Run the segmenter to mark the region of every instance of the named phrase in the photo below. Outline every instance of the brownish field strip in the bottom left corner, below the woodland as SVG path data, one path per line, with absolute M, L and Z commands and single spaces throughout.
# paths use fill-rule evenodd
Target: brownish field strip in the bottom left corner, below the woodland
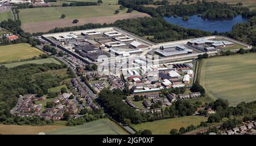
M 49 132 L 63 128 L 64 126 L 18 126 L 0 124 L 0 135 L 35 135 L 39 132 Z

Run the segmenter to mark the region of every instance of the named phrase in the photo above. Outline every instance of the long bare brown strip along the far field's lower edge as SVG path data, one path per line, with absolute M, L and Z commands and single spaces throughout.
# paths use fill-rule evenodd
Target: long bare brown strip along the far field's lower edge
M 61 19 L 61 20 L 53 20 L 48 22 L 36 22 L 36 23 L 26 23 L 22 24 L 22 29 L 25 32 L 47 32 L 52 30 L 55 27 L 68 27 L 68 26 L 81 26 L 86 23 L 113 23 L 116 20 L 129 19 L 129 18 L 138 18 L 150 16 L 146 13 L 136 13 L 136 14 L 122 14 L 122 15 L 113 15 L 113 16 L 99 16 L 93 18 L 80 18 L 79 23 L 72 23 L 73 19 Z

